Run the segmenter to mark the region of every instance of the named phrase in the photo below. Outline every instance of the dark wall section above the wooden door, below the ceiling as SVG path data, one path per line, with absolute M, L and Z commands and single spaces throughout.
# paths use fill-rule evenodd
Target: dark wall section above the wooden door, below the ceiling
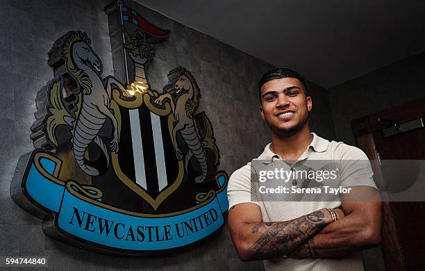
M 356 145 L 350 121 L 425 96 L 425 52 L 327 90 L 336 137 Z

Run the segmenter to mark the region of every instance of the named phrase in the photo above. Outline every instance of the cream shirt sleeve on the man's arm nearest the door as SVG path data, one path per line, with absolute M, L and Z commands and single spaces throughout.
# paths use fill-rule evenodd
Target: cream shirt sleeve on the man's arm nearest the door
M 337 156 L 340 160 L 340 186 L 372 186 L 374 172 L 366 154 L 358 147 L 342 144 L 338 146 Z

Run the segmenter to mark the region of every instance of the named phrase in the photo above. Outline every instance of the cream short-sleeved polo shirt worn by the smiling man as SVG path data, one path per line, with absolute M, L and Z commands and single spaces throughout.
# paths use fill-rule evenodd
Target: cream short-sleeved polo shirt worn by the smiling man
M 271 143 L 265 147 L 263 154 L 258 156 L 257 160 L 265 164 L 281 162 L 282 158 L 270 150 L 270 145 Z M 313 133 L 312 142 L 308 145 L 306 151 L 301 154 L 297 163 L 306 160 L 326 160 L 340 163 L 340 161 L 367 161 L 368 159 L 366 154 L 357 147 L 346 145 L 343 142 L 329 142 Z M 297 163 L 294 165 L 297 165 Z M 342 188 L 348 186 L 372 186 L 376 188 L 372 167 L 370 167 L 368 162 L 367 165 L 369 166 L 359 169 L 358 166 L 354 166 L 352 163 L 342 163 L 338 171 L 340 186 Z M 290 202 L 285 199 L 281 202 L 268 202 L 257 197 L 254 198 L 251 187 L 251 163 L 248 163 L 233 172 L 229 179 L 227 188 L 228 206 L 231 208 L 236 204 L 245 202 L 257 204 L 260 206 L 263 222 L 292 220 L 322 208 L 336 208 L 341 205 L 339 195 L 335 196 L 336 199 L 333 202 Z M 285 195 L 282 195 L 282 197 L 285 197 Z M 299 259 L 281 256 L 263 262 L 266 270 L 364 270 L 360 252 L 350 256 L 332 258 Z

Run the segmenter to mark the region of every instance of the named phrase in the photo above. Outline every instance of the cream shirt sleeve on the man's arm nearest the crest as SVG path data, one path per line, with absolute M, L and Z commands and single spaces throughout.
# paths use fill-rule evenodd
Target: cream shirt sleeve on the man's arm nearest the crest
M 251 165 L 247 164 L 236 170 L 228 180 L 228 208 L 236 204 L 251 202 L 258 205 L 256 196 L 251 193 Z

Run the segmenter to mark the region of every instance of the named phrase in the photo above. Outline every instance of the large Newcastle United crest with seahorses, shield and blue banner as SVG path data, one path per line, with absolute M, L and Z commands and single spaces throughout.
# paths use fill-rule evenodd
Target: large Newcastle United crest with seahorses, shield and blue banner
M 228 208 L 213 124 L 197 112 L 197 71 L 176 67 L 151 89 L 147 67 L 170 32 L 121 2 L 115 15 L 126 82 L 102 76 L 86 33 L 58 39 L 56 79 L 36 98 L 35 149 L 19 159 L 10 194 L 44 233 L 78 247 L 142 254 L 197 243 Z

